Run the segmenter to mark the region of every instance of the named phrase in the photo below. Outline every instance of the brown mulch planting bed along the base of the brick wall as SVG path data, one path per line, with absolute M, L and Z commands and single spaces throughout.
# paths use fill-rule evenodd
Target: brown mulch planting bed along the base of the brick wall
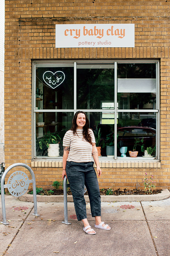
M 49 190 L 45 190 L 44 191 L 44 195 L 48 195 L 48 191 Z M 51 195 L 63 195 L 63 189 L 52 189 L 52 191 L 54 191 L 54 193 L 52 193 Z M 144 191 L 144 190 L 140 190 L 140 189 L 114 189 L 111 191 L 111 189 L 100 189 L 100 195 L 152 195 L 152 194 L 159 194 L 161 193 L 162 189 L 155 189 L 152 190 L 152 193 Z M 42 195 L 42 193 L 41 193 Z M 67 195 L 72 195 L 71 190 L 68 189 L 67 191 Z M 88 193 L 86 192 L 85 195 L 88 195 Z

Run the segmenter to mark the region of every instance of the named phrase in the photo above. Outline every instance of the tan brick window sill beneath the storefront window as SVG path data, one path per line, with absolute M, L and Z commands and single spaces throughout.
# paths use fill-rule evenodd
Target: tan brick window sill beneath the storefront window
M 150 158 L 140 158 L 137 157 L 132 159 L 131 157 L 118 158 L 113 160 L 112 158 L 100 157 L 99 165 L 101 168 L 161 168 L 160 160 Z M 31 167 L 52 167 L 52 168 L 62 168 L 62 159 L 33 159 L 31 161 Z M 94 164 L 94 167 L 96 165 Z

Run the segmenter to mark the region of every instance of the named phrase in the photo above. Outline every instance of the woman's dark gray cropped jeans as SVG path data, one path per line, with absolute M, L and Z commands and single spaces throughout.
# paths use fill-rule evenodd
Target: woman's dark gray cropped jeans
M 97 176 L 93 167 L 94 162 L 68 162 L 66 164 L 67 179 L 73 195 L 75 211 L 78 220 L 87 218 L 84 185 L 90 199 L 92 217 L 101 216 L 101 198 Z

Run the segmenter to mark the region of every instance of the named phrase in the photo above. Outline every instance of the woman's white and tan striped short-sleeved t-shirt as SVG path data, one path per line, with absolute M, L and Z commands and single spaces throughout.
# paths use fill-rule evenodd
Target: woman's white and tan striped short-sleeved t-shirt
M 92 138 L 92 143 L 95 143 L 94 133 L 91 129 L 88 130 Z M 76 130 L 77 135 L 73 135 L 73 131 L 69 130 L 63 138 L 63 146 L 70 147 L 67 161 L 73 162 L 91 162 L 92 161 L 92 145 L 83 137 L 83 129 Z

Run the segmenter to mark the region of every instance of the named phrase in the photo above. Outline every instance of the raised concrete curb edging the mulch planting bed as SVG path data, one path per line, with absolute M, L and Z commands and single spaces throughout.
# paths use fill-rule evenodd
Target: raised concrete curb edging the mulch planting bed
M 154 195 L 102 195 L 102 202 L 134 202 L 134 201 L 159 201 L 170 197 L 168 189 L 163 189 L 161 193 Z M 89 202 L 88 195 L 84 196 L 86 202 Z M 33 195 L 25 193 L 19 197 L 20 201 L 33 202 Z M 63 202 L 63 195 L 37 195 L 37 202 Z M 67 195 L 67 202 L 73 202 L 72 195 Z

